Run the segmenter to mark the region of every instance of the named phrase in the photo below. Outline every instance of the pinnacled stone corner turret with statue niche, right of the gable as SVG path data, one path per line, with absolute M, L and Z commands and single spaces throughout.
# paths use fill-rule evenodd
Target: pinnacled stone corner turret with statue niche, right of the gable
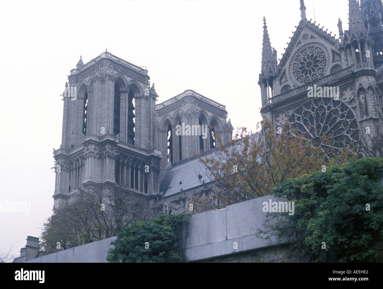
M 375 1 L 366 0 L 362 5 L 364 7 L 359 7 L 357 0 L 349 0 L 349 30 L 344 31 L 341 43 L 347 64 L 355 71 L 354 91 L 361 128 L 360 136 L 364 137 L 368 143 L 369 136 L 366 135 L 366 131 L 373 135 L 379 120 L 376 108 L 380 92 L 376 81 L 375 65 L 380 66 L 383 60 L 372 48 L 370 31 L 378 30 L 380 26 L 379 31 L 375 31 L 374 37 L 377 37 L 376 35 L 381 34 L 382 24 L 378 20 L 379 12 L 375 8 L 379 6 Z M 383 8 L 381 1 L 380 7 Z M 339 33 L 343 34 L 341 23 L 338 23 L 338 27 Z

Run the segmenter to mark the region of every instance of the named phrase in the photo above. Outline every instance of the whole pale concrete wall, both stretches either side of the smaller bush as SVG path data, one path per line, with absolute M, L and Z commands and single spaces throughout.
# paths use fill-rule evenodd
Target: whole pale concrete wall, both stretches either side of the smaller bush
M 275 238 L 265 241 L 255 236 L 258 229 L 264 230 L 262 225 L 267 213 L 262 212 L 262 203 L 268 202 L 269 199 L 275 201 L 268 195 L 230 205 L 225 209 L 211 210 L 191 216 L 185 249 L 187 261 L 216 259 L 219 256 L 280 245 L 281 243 Z M 115 238 L 96 241 L 28 262 L 107 262 L 106 256 L 111 248 L 110 242 Z

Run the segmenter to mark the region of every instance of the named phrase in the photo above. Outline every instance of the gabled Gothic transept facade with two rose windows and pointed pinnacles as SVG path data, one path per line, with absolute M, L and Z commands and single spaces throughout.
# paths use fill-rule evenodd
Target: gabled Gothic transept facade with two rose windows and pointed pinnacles
M 381 73 L 374 64 L 380 63 L 380 53 L 373 49 L 366 26 L 378 25 L 371 29 L 382 30 L 378 21 L 381 6 L 381 1 L 364 0 L 363 20 L 357 0 L 349 0 L 349 30 L 343 31 L 339 19 L 340 37 L 336 39 L 332 31 L 327 33 L 316 21 L 307 20 L 304 1 L 300 0 L 301 20 L 279 63 L 264 19 L 258 82 L 261 113 L 276 129 L 288 120 L 302 133 L 307 131 L 313 144 L 318 137 L 331 133 L 331 145 L 337 149 L 358 149 L 360 139 L 366 138 L 366 128 L 374 134 L 381 95 Z M 375 15 L 375 20 L 368 15 Z M 318 94 L 310 97 L 308 91 L 314 88 Z M 319 145 L 326 151 L 323 144 Z

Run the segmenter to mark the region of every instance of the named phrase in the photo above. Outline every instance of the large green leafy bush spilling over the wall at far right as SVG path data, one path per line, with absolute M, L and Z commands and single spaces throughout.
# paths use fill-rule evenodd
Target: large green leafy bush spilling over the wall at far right
M 265 227 L 290 237 L 314 262 L 382 262 L 382 176 L 383 159 L 364 158 L 289 179 L 272 195 L 295 201 L 295 214 Z

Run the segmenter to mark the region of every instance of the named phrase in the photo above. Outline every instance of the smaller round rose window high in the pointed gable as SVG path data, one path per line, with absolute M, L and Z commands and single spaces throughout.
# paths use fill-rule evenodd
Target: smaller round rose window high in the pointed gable
M 301 84 L 324 76 L 327 59 L 322 48 L 308 46 L 302 49 L 293 61 L 293 76 Z

